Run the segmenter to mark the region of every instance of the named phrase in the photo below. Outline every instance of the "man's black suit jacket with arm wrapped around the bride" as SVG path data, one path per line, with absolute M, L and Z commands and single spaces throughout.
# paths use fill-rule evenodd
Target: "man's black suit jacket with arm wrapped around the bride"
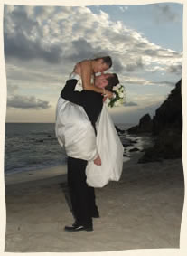
M 76 79 L 66 81 L 61 98 L 82 106 L 96 132 L 95 123 L 103 107 L 103 96 L 93 90 L 74 90 L 77 82 Z

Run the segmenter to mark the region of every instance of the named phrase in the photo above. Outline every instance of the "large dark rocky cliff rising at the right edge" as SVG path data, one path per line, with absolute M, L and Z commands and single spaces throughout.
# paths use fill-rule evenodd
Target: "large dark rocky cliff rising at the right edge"
M 139 159 L 139 163 L 182 156 L 181 83 L 182 81 L 176 83 L 168 98 L 156 109 L 153 121 L 148 118 L 143 119 L 142 128 L 141 122 L 139 122 L 138 128 L 136 128 L 137 133 L 146 128 L 148 130 L 148 126 L 146 127 L 145 123 L 149 123 L 149 128 L 151 128 L 151 132 L 155 136 L 154 146 L 145 150 L 145 155 Z M 130 128 L 128 132 L 136 129 L 135 127 Z

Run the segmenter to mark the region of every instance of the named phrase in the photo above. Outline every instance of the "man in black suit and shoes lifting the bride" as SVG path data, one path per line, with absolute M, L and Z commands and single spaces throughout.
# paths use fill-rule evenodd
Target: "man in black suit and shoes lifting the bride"
M 65 87 L 61 90 L 61 98 L 83 107 L 95 134 L 97 134 L 95 123 L 103 106 L 103 96 L 93 90 L 74 90 L 80 73 L 80 67 L 76 66 L 74 73 L 70 76 L 70 80 L 66 82 Z M 119 81 L 116 74 L 102 74 L 95 78 L 95 86 L 106 90 L 112 90 L 117 83 Z M 99 156 L 94 159 L 94 163 L 101 165 Z M 85 159 L 68 156 L 68 185 L 72 212 L 75 217 L 75 223 L 72 226 L 65 227 L 65 231 L 68 232 L 92 231 L 92 217 L 99 216 L 98 208 L 95 204 L 94 188 L 89 187 L 86 183 L 87 164 L 88 161 Z

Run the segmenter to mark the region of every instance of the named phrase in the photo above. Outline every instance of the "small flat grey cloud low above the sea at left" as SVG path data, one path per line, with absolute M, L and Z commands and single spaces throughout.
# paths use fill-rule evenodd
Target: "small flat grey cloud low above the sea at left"
M 14 95 L 8 97 L 7 107 L 15 109 L 49 109 L 51 106 L 48 101 L 35 99 L 33 96 Z

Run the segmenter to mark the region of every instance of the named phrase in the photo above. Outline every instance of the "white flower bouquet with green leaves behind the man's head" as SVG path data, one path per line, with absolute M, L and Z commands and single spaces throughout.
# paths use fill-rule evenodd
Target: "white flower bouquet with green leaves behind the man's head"
M 125 88 L 121 84 L 117 84 L 116 86 L 113 87 L 113 94 L 114 97 L 109 100 L 108 102 L 108 107 L 113 108 L 113 107 L 119 107 L 123 105 L 124 100 L 125 100 Z

